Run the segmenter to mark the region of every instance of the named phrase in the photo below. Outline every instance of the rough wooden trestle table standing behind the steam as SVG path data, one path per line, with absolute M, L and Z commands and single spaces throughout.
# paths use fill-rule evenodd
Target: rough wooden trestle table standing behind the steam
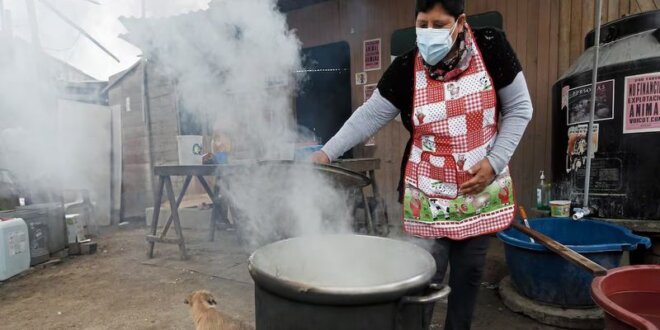
M 380 192 L 378 190 L 378 185 L 376 183 L 375 171 L 380 168 L 380 159 L 375 158 L 365 158 L 365 159 L 350 159 L 350 160 L 340 160 L 334 162 L 333 165 L 339 166 L 354 172 L 362 173 L 368 176 L 371 179 L 371 185 L 373 189 L 373 195 L 376 200 L 380 200 Z M 213 241 L 215 237 L 216 222 L 215 218 L 218 214 L 226 216 L 226 208 L 229 207 L 227 201 L 222 196 L 227 196 L 227 194 L 219 191 L 220 185 L 214 185 L 214 188 L 208 184 L 205 176 L 213 176 L 216 178 L 216 181 L 219 177 L 223 176 L 227 172 L 231 172 L 234 169 L 239 169 L 244 167 L 245 164 L 229 164 L 229 165 L 168 165 L 168 166 L 156 166 L 154 167 L 154 174 L 158 177 L 158 187 L 155 192 L 154 199 L 154 212 L 151 219 L 151 228 L 149 234 L 146 236 L 148 243 L 147 257 L 153 258 L 154 256 L 154 247 L 156 243 L 165 243 L 165 244 L 177 244 L 179 246 L 179 251 L 181 253 L 182 259 L 187 259 L 188 254 L 186 252 L 186 243 L 183 237 L 183 230 L 181 229 L 181 222 L 179 218 L 179 206 L 181 201 L 190 186 L 190 182 L 193 177 L 197 178 L 201 183 L 202 187 L 206 194 L 211 198 L 211 201 L 214 205 L 213 216 L 210 219 L 209 224 L 209 240 Z M 178 195 L 175 196 L 174 188 L 172 185 L 173 176 L 183 176 L 185 177 L 183 181 L 183 186 Z M 163 190 L 167 194 L 167 200 L 170 205 L 170 216 L 165 223 L 163 231 L 158 235 L 158 220 L 160 217 L 160 207 L 161 201 L 163 198 Z M 362 199 L 365 205 L 365 213 L 367 215 L 367 221 L 369 224 L 370 234 L 374 234 L 373 230 L 373 220 L 371 211 L 369 209 L 369 203 L 366 195 L 362 194 Z M 216 212 L 218 209 L 221 211 Z M 387 227 L 387 213 L 385 213 L 385 225 Z M 166 238 L 167 232 L 169 231 L 171 225 L 174 224 L 174 231 L 176 232 L 176 238 Z

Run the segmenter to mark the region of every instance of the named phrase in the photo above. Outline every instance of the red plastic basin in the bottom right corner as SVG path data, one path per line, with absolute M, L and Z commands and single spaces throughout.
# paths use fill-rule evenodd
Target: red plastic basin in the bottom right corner
M 660 265 L 619 267 L 596 277 L 591 296 L 607 330 L 660 329 Z

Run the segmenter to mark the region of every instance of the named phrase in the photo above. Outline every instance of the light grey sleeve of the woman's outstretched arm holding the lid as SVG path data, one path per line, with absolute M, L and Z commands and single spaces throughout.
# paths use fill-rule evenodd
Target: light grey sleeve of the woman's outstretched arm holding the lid
M 323 151 L 333 161 L 358 143 L 373 136 L 381 127 L 399 114 L 390 101 L 380 95 L 376 89 L 362 106 L 360 106 L 335 136 L 326 143 Z

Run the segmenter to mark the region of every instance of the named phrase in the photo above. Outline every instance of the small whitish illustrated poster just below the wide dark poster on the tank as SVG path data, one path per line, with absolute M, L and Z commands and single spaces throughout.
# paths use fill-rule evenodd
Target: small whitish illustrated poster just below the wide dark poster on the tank
M 576 171 L 587 163 L 587 127 L 588 124 L 568 128 L 568 147 L 566 150 L 566 173 Z M 598 151 L 598 124 L 591 128 L 591 155 Z

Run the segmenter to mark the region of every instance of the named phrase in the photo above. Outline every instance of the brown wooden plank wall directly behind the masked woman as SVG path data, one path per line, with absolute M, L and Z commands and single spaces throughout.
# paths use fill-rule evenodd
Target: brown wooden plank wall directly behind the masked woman
M 534 118 L 511 161 L 517 200 L 534 203 L 539 171 L 550 169 L 551 87 L 584 49 L 584 37 L 593 28 L 592 0 L 467 0 L 466 12 L 499 11 L 504 30 L 516 50 L 529 86 Z M 660 0 L 604 0 L 603 22 L 660 6 Z M 390 63 L 390 37 L 394 30 L 414 22 L 412 0 L 333 0 L 288 13 L 288 22 L 303 47 L 345 40 L 351 47 L 351 71 L 362 70 L 362 41 L 382 38 L 383 69 L 368 72 L 376 83 Z M 352 86 L 353 109 L 363 102 L 362 86 Z M 377 179 L 392 218 L 400 214 L 396 202 L 399 165 L 408 133 L 393 121 L 376 136 L 374 150 L 359 155 L 382 160 Z

